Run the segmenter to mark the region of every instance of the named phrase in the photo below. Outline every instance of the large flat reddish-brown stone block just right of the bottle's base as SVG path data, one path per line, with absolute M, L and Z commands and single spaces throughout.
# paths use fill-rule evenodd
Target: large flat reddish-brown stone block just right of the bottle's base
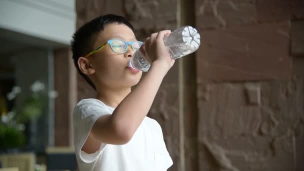
M 200 30 L 196 52 L 200 81 L 288 79 L 289 22 Z

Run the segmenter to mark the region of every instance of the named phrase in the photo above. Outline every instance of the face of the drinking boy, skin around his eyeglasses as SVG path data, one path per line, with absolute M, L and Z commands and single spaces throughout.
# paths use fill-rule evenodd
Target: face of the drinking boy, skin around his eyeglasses
M 136 41 L 133 31 L 125 24 L 110 23 L 104 26 L 103 31 L 97 34 L 93 49 L 110 39 Z M 96 86 L 109 86 L 112 88 L 131 87 L 138 83 L 142 71 L 133 71 L 128 68 L 128 61 L 134 51 L 128 46 L 123 54 L 112 51 L 109 44 L 103 49 L 89 56 L 94 69 L 93 77 Z

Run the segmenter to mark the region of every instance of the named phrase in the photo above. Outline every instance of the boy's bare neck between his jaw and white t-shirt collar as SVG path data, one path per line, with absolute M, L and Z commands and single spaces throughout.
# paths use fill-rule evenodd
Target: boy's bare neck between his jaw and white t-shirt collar
M 117 105 L 131 92 L 131 88 L 97 89 L 96 98 L 104 104 L 116 108 Z

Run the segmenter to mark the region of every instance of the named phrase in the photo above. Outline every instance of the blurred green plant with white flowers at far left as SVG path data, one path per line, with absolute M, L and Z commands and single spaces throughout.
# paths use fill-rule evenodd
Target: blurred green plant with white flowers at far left
M 7 94 L 7 99 L 16 98 L 20 92 L 21 88 L 14 86 L 12 91 Z M 30 94 L 23 94 L 24 98 L 18 107 L 1 113 L 0 149 L 22 147 L 25 143 L 24 125 L 30 120 L 40 117 L 46 107 L 47 98 L 55 96 L 55 91 L 46 93 L 44 84 L 34 81 L 30 86 Z

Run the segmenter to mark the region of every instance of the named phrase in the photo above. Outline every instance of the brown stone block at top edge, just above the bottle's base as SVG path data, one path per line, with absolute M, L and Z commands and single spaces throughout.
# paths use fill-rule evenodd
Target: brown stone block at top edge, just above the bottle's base
M 195 0 L 195 12 L 198 29 L 257 22 L 254 0 Z

